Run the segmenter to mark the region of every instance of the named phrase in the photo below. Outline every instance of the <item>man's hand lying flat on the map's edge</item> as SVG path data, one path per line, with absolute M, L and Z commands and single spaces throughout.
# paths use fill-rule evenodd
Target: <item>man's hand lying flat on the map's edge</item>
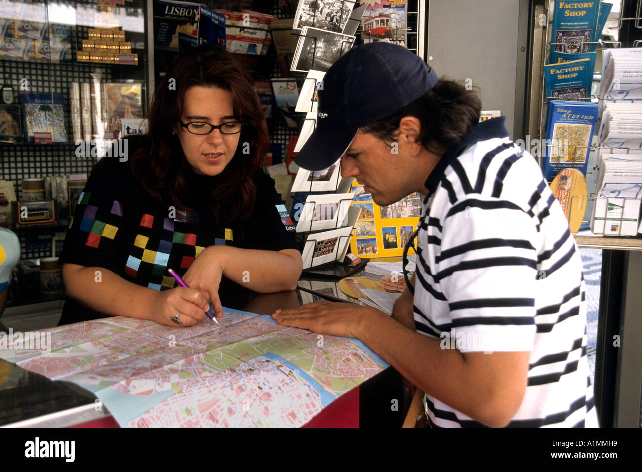
M 315 302 L 290 310 L 276 310 L 272 319 L 282 326 L 309 329 L 324 335 L 358 338 L 358 328 L 362 324 L 367 326 L 367 323 L 379 316 L 388 317 L 383 311 L 370 306 L 346 302 Z

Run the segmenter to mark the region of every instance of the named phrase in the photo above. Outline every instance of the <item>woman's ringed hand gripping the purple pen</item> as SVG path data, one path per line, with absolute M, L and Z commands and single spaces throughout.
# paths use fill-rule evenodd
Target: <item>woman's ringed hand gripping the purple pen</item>
M 207 292 L 195 288 L 175 287 L 171 290 L 158 292 L 150 311 L 150 319 L 165 326 L 192 326 L 198 320 L 205 318 L 209 310 Z M 180 311 L 180 325 L 171 319 Z

